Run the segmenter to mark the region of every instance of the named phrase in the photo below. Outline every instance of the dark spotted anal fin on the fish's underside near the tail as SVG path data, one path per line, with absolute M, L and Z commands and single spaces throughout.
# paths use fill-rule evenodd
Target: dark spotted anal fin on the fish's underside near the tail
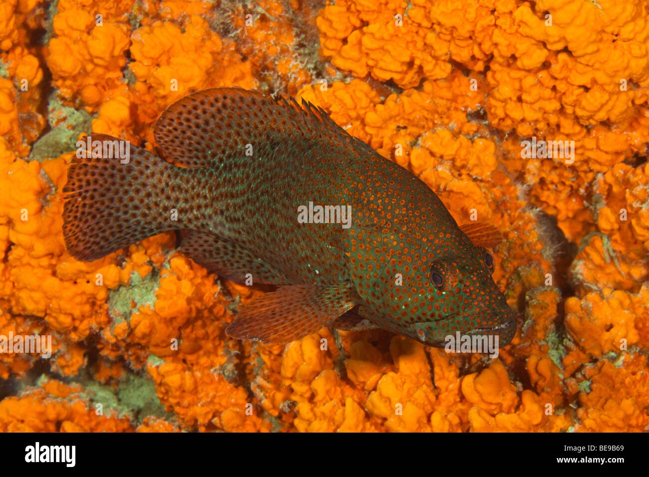
M 233 282 L 245 282 L 250 273 L 253 284 L 288 284 L 280 271 L 236 243 L 214 234 L 191 230 L 182 239 L 180 251 L 202 267 Z

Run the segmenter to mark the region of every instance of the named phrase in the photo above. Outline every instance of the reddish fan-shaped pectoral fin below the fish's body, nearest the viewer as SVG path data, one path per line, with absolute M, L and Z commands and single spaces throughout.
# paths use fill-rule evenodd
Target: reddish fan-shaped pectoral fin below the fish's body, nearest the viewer
M 237 339 L 290 343 L 336 321 L 359 300 L 349 284 L 284 286 L 252 300 L 225 332 Z

